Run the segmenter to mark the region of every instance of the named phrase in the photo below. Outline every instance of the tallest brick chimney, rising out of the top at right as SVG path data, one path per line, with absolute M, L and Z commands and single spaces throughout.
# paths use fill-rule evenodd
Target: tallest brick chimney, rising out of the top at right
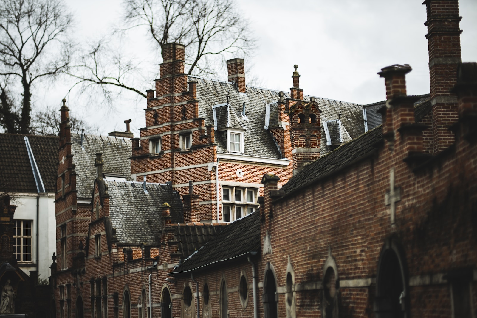
M 434 153 L 454 142 L 449 127 L 457 121 L 457 98 L 450 91 L 456 84 L 461 62 L 458 0 L 425 0 L 429 48 L 432 129 Z

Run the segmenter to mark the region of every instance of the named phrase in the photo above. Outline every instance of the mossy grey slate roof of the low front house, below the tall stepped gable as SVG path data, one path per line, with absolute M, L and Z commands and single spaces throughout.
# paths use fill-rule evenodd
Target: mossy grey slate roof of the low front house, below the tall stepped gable
M 106 181 L 108 185 L 109 217 L 116 229 L 118 244 L 157 245 L 162 233 L 162 208 L 167 202 L 171 221 L 184 221 L 179 194 L 167 184 L 146 183 L 144 192 L 141 182 Z

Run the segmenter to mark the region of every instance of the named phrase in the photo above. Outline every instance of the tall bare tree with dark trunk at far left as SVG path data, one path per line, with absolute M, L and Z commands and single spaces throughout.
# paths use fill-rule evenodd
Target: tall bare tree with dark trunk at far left
M 0 0 L 0 124 L 6 132 L 30 132 L 32 85 L 69 64 L 71 23 L 57 0 Z M 20 86 L 15 106 L 11 95 Z

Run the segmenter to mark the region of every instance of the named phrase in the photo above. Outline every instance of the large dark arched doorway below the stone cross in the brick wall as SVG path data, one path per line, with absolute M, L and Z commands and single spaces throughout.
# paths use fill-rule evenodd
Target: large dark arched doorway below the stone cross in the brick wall
M 404 259 L 404 253 L 393 240 L 384 244 L 376 278 L 376 318 L 409 317 Z

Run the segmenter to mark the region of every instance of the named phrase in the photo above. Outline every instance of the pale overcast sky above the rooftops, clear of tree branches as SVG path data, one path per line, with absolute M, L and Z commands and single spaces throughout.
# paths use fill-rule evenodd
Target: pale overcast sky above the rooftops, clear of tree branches
M 459 2 L 462 60 L 477 61 L 477 1 Z M 123 20 L 119 0 L 67 0 L 66 4 L 76 21 L 74 37 L 79 43 L 106 36 Z M 305 94 L 366 104 L 385 99 L 384 80 L 376 73 L 388 65 L 407 63 L 413 68 L 406 78 L 408 94 L 429 92 L 422 0 L 238 0 L 237 6 L 258 44 L 245 59 L 246 68 L 252 66 L 247 76 L 257 77 L 261 87 L 288 91 L 293 65 L 298 64 Z M 154 54 L 145 30 L 130 33 L 122 45 L 128 54 L 134 52 L 138 63 L 156 60 L 151 65 L 158 71 L 162 60 Z M 226 80 L 226 71 L 218 78 Z M 57 83 L 46 89 L 36 103 L 60 106 L 68 85 Z M 75 89 L 67 98 L 72 114 L 96 124 L 102 134 L 124 130 L 123 121 L 129 118 L 136 137 L 137 129 L 145 126 L 145 99 L 134 94 L 122 94 L 113 108 L 78 97 Z

